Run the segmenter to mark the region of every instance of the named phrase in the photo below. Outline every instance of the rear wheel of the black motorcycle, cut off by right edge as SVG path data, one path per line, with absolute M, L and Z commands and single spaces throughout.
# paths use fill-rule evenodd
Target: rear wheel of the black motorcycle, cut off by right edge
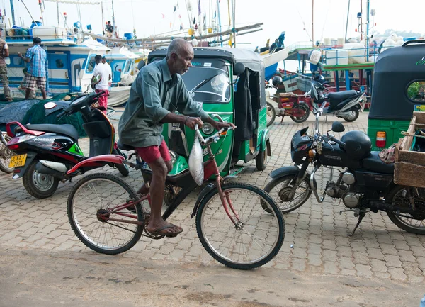
M 409 186 L 396 186 L 395 189 L 392 189 L 392 191 L 390 191 L 386 199 L 388 201 L 391 201 L 391 203 L 395 206 L 411 208 L 412 205 L 409 199 L 407 199 L 407 197 L 403 195 L 404 193 L 407 193 L 407 189 L 414 189 L 414 188 Z M 422 213 L 422 216 L 424 216 L 424 219 L 419 220 L 413 217 L 405 218 L 390 212 L 387 212 L 387 216 L 390 218 L 392 223 L 395 223 L 395 225 L 397 225 L 398 228 L 401 228 L 402 230 L 406 230 L 408 233 L 416 233 L 418 235 L 425 235 L 425 198 L 424 198 L 425 189 L 420 189 L 420 188 L 418 189 L 419 191 L 421 191 L 420 194 L 422 194 L 422 196 L 414 195 L 413 198 L 414 198 L 416 209 L 421 210 L 421 213 Z M 401 213 L 401 214 L 404 216 L 409 216 L 409 214 L 407 213 Z

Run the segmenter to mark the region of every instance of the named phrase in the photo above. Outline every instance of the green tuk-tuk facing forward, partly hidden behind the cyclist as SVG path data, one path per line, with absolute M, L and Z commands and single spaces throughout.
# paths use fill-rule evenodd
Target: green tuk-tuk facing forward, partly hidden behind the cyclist
M 266 118 L 264 65 L 255 52 L 243 49 L 194 48 L 192 67 L 182 78 L 193 99 L 218 120 L 237 125 L 226 138 L 212 144 L 221 176 L 235 175 L 243 168 L 239 160 L 255 158 L 256 168 L 264 170 L 271 155 Z M 166 49 L 149 53 L 148 62 L 162 60 Z M 215 133 L 212 125 L 204 123 L 201 133 L 208 137 Z M 195 133 L 185 125 L 164 124 L 164 139 L 173 158 L 170 176 L 188 169 Z M 204 160 L 208 152 L 204 152 Z M 232 169 L 232 171 L 231 171 Z

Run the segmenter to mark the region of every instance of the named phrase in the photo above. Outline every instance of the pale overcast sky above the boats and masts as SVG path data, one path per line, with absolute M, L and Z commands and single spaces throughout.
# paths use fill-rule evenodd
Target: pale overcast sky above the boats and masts
M 12 23 L 10 0 L 0 0 L 1 13 L 6 10 L 6 22 Z M 23 21 L 25 26 L 29 26 L 32 19 L 22 1 L 13 0 L 15 19 L 18 26 Z M 37 21 L 40 21 L 40 6 L 38 0 L 24 0 L 26 6 Z M 77 1 L 77 0 L 67 0 Z M 100 0 L 79 0 L 100 1 Z M 180 23 L 188 29 L 189 20 L 195 17 L 198 20 L 198 1 L 202 15 L 206 13 L 209 21 L 210 14 L 213 16 L 217 11 L 217 0 L 114 0 L 115 23 L 120 29 L 120 35 L 137 30 L 138 38 L 145 38 L 149 35 L 159 35 L 169 33 L 171 30 L 178 30 Z M 228 0 L 232 2 L 232 0 Z M 228 1 L 220 0 L 220 17 L 222 30 L 227 30 L 229 24 Z M 257 45 L 263 47 L 266 40 L 273 41 L 278 38 L 282 31 L 285 31 L 285 44 L 289 45 L 300 41 L 308 41 L 312 38 L 312 11 L 314 12 L 314 41 L 324 38 L 344 38 L 346 31 L 348 2 L 351 3 L 347 38 L 358 36 L 357 13 L 360 11 L 361 0 L 315 0 L 314 10 L 312 10 L 313 0 L 233 0 L 235 1 L 236 26 L 247 26 L 254 23 L 264 23 L 263 30 L 257 33 L 241 35 L 237 37 L 237 47 L 255 48 Z M 192 17 L 188 17 L 185 2 L 190 2 L 192 6 Z M 363 16 L 366 15 L 366 0 L 363 0 Z M 174 6 L 179 3 L 179 9 Z M 45 1 L 43 16 L 45 25 L 57 26 L 56 3 Z M 212 10 L 208 9 L 212 6 Z M 67 12 L 68 25 L 79 20 L 77 5 L 59 4 L 60 24 L 64 25 L 63 12 Z M 395 30 L 412 30 L 424 33 L 423 11 L 419 0 L 370 0 L 370 9 L 375 9 L 375 16 L 371 17 L 371 27 L 380 33 L 392 28 Z M 103 1 L 104 21 L 101 18 L 101 5 L 81 5 L 81 23 L 86 28 L 91 24 L 94 33 L 101 33 L 104 21 L 112 20 L 112 0 Z M 181 18 L 179 18 L 181 16 Z M 202 19 L 202 17 L 201 17 Z M 212 19 L 212 18 L 211 18 Z M 365 22 L 365 18 L 363 18 Z M 376 26 L 374 26 L 376 23 Z M 171 27 L 170 27 L 171 24 Z M 365 30 L 365 26 L 363 27 Z M 187 32 L 186 32 L 187 33 Z

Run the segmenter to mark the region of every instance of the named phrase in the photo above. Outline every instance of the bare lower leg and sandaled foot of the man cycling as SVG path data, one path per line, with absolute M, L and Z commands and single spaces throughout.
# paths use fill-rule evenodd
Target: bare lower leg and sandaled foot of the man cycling
M 170 223 L 164 221 L 161 215 L 162 203 L 164 201 L 164 187 L 166 174 L 171 169 L 171 162 L 164 162 L 162 157 L 155 160 L 152 163 L 148 163 L 150 169 L 152 169 L 152 181 L 150 186 L 151 196 L 151 214 L 149 217 L 149 224 L 147 225 L 148 231 L 155 231 L 166 226 L 170 226 Z M 180 233 L 182 228 L 174 226 L 167 228 L 166 233 Z

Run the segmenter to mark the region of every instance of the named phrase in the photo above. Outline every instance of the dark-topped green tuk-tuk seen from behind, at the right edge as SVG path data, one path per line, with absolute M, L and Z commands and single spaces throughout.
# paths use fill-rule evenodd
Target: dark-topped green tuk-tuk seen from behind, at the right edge
M 372 150 L 402 138 L 413 111 L 425 111 L 425 40 L 382 52 L 375 63 L 368 135 Z

